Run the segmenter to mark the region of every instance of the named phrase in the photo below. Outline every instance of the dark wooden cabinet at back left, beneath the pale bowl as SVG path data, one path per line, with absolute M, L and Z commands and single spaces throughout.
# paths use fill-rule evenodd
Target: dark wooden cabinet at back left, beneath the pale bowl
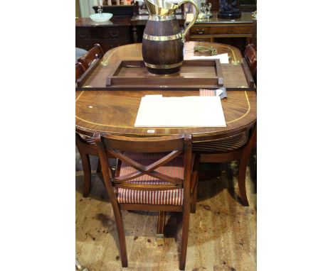
M 120 45 L 132 43 L 129 16 L 117 16 L 104 23 L 90 18 L 78 18 L 75 22 L 75 47 L 90 50 L 99 43 L 107 52 Z

